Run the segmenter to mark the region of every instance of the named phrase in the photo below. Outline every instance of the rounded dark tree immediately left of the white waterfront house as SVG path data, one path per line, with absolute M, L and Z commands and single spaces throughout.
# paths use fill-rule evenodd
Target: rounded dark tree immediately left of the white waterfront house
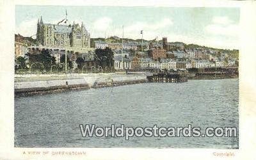
M 95 50 L 95 61 L 99 61 L 100 66 L 111 66 L 114 58 L 114 53 L 111 48 L 106 47 L 105 49 L 96 49 Z

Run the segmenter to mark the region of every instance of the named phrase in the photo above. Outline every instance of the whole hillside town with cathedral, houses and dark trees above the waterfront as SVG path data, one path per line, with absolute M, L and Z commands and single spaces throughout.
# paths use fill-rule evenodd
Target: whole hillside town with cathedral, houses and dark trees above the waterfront
M 65 20 L 64 20 L 65 21 Z M 138 34 L 143 34 L 143 31 Z M 143 35 L 142 35 L 143 36 Z M 83 24 L 48 24 L 38 18 L 36 38 L 15 34 L 15 71 L 141 71 L 238 66 L 238 50 L 182 42 L 90 38 Z

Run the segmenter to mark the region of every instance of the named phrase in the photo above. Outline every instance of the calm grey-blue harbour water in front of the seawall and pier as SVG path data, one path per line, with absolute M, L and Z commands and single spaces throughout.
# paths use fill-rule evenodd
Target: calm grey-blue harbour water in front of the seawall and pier
M 172 147 L 237 149 L 237 138 L 83 138 L 97 126 L 238 127 L 238 80 L 136 84 L 15 99 L 16 147 Z

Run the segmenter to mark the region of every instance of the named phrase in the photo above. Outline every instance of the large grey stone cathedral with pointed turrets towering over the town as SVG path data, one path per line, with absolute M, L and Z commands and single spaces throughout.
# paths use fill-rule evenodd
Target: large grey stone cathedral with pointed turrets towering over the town
M 45 24 L 38 19 L 36 41 L 52 48 L 90 48 L 90 33 L 79 24 Z

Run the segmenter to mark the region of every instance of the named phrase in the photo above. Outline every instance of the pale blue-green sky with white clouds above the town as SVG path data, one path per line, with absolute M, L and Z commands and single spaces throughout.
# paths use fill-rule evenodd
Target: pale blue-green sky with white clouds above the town
M 15 6 L 15 33 L 36 34 L 38 18 L 57 24 L 83 22 L 91 38 L 119 36 L 181 41 L 207 47 L 239 47 L 239 8 L 124 7 L 124 6 Z

